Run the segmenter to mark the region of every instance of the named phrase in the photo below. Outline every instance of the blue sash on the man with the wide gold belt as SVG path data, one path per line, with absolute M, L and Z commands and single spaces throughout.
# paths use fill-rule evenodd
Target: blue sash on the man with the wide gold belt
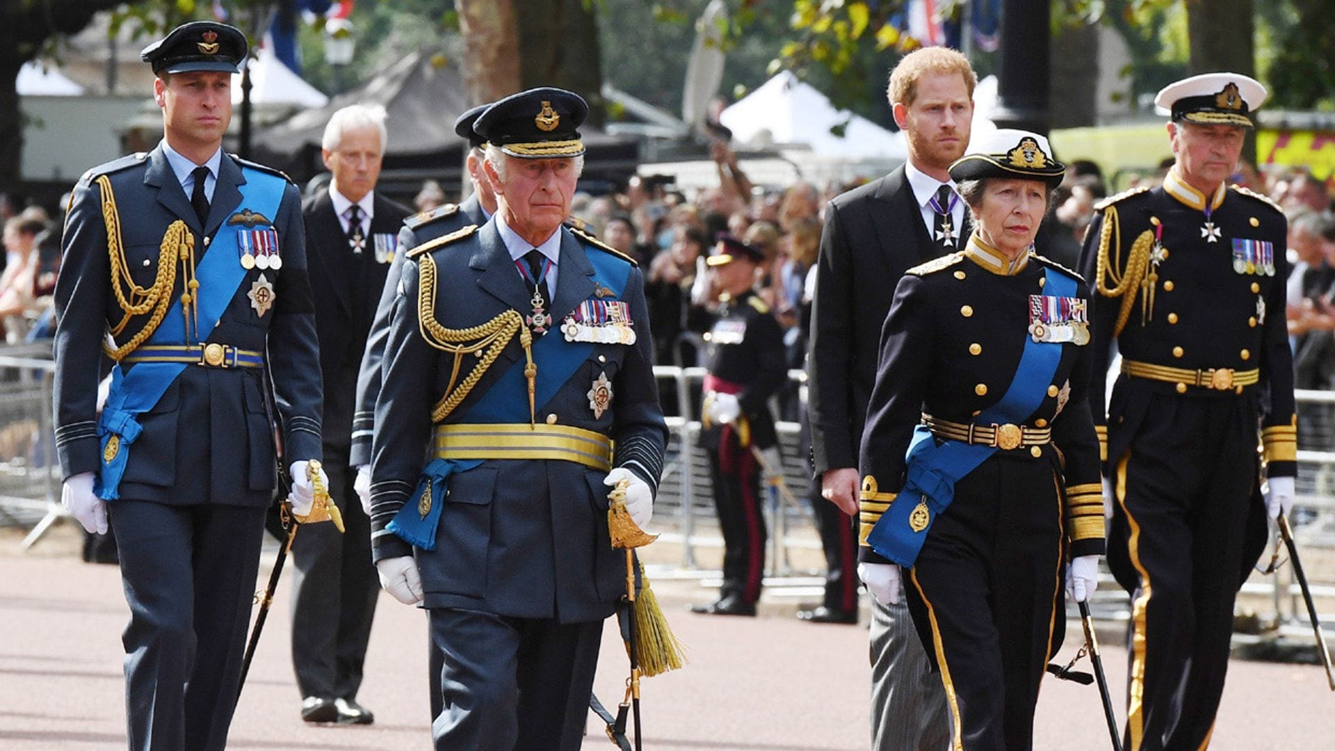
M 601 286 L 611 289 L 619 298 L 630 278 L 630 266 L 609 254 L 587 251 L 593 263 L 593 278 Z M 575 370 L 593 354 L 589 342 L 567 342 L 561 329 L 547 331 L 533 345 L 533 362 L 538 366 L 534 405 L 543 412 L 551 397 L 566 385 Z M 526 424 L 529 422 L 529 380 L 523 374 L 527 365 L 519 358 L 497 378 L 495 384 L 467 409 L 459 422 L 485 424 Z M 445 494 L 449 492 L 449 478 L 455 472 L 467 472 L 485 460 L 433 458 L 422 469 L 417 489 L 403 504 L 399 513 L 390 520 L 386 529 L 402 537 L 406 543 L 423 551 L 435 549 L 435 531 L 441 521 Z M 423 516 L 419 504 L 414 502 L 423 493 L 431 493 L 431 508 Z

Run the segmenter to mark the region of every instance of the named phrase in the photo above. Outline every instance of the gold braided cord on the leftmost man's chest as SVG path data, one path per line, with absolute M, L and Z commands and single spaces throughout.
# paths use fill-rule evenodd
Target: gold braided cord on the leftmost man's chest
M 129 275 L 129 262 L 125 259 L 125 247 L 120 239 L 120 214 L 116 210 L 116 195 L 111 190 L 111 178 L 101 175 L 97 178 L 97 187 L 101 190 L 101 219 L 107 226 L 107 254 L 111 261 L 111 289 L 116 294 L 116 302 L 124 317 L 120 323 L 111 327 L 112 337 L 119 335 L 129 319 L 135 315 L 152 313 L 144 327 L 135 333 L 125 343 L 112 347 L 103 342 L 107 355 L 120 362 L 127 354 L 158 330 L 167 309 L 171 306 L 171 290 L 176 286 L 176 262 L 180 261 L 186 278 L 190 279 L 186 291 L 182 294 L 182 309 L 190 322 L 192 293 L 198 294 L 199 281 L 194 278 L 195 262 L 195 235 L 191 234 L 186 222 L 176 219 L 167 231 L 163 233 L 162 245 L 158 250 L 158 273 L 150 287 L 140 287 Z M 128 289 L 128 291 L 127 291 Z M 187 325 L 187 331 L 190 326 Z

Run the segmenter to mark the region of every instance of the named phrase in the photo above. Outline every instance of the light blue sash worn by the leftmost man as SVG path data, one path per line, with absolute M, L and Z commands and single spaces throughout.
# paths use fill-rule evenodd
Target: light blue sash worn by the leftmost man
M 287 180 L 248 167 L 242 167 L 246 183 L 238 186 L 242 202 L 238 211 L 250 208 L 264 216 L 276 216 Z M 198 341 L 208 339 L 223 311 L 236 295 L 246 278 L 236 255 L 236 238 L 240 224 L 223 222 L 210 242 L 208 253 L 195 267 L 199 279 L 199 327 Z M 175 291 L 175 290 L 174 290 Z M 172 302 L 162 323 L 144 343 L 183 345 L 186 323 L 182 317 L 180 298 Z M 107 404 L 97 421 L 97 437 L 101 440 L 101 472 L 97 473 L 93 490 L 97 497 L 112 501 L 120 497 L 120 478 L 125 473 L 129 446 L 142 430 L 139 416 L 151 410 L 162 400 L 172 381 L 186 369 L 184 362 L 139 362 L 125 373 L 117 363 L 111 370 L 111 390 Z M 108 444 L 115 445 L 108 449 Z

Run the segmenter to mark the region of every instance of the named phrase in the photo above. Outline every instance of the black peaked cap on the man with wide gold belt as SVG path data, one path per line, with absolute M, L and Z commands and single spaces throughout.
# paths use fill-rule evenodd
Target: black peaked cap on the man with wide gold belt
M 510 156 L 579 156 L 585 152 L 579 126 L 587 116 L 589 104 L 573 91 L 530 88 L 487 107 L 473 130 Z

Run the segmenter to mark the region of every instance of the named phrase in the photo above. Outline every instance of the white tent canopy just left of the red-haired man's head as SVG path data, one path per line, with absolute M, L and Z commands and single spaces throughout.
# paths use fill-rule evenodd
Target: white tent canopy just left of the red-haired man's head
M 849 159 L 904 159 L 904 135 L 836 110 L 824 94 L 782 71 L 741 102 L 724 110 L 718 120 L 733 138 L 752 146 L 806 144 L 820 156 Z M 844 136 L 830 127 L 848 123 Z

